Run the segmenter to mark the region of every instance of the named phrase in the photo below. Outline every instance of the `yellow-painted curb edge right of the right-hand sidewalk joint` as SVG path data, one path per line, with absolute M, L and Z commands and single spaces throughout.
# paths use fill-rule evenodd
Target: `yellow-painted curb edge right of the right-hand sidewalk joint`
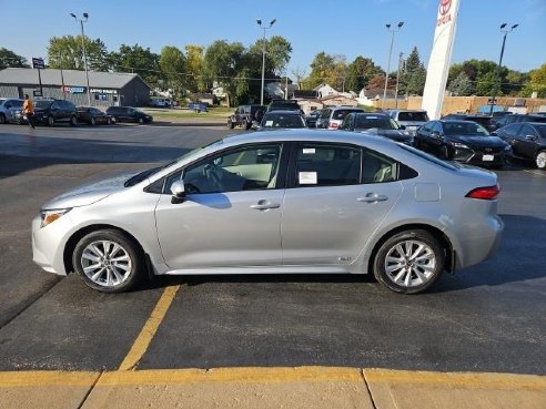
M 484 389 L 546 390 L 546 377 L 538 375 L 486 372 L 429 372 L 392 369 L 363 369 L 367 384 L 422 384 Z

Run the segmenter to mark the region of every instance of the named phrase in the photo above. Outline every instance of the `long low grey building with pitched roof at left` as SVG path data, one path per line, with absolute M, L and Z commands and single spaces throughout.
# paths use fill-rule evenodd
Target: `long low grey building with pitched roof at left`
M 8 68 L 0 71 L 0 98 L 39 95 L 36 69 Z M 84 71 L 40 70 L 42 98 L 65 99 L 75 105 L 88 105 Z M 138 74 L 89 72 L 91 102 L 95 106 L 143 106 L 150 101 L 151 88 Z

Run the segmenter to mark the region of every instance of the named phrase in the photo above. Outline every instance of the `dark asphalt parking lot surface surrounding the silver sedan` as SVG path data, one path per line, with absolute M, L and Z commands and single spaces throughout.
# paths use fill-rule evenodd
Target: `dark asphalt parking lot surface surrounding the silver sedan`
M 104 295 L 32 263 L 30 222 L 57 194 L 151 167 L 222 127 L 0 127 L 0 371 L 114 370 L 171 288 L 138 369 L 337 366 L 545 375 L 546 173 L 498 171 L 506 223 L 494 258 L 432 292 L 367 276 L 156 278 Z M 136 345 L 138 347 L 138 345 Z

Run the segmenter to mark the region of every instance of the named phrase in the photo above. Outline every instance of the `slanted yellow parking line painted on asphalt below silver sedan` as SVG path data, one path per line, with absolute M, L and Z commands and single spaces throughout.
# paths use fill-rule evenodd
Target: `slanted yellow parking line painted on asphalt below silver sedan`
M 150 318 L 148 318 L 146 324 L 142 327 L 139 336 L 133 342 L 133 346 L 129 350 L 129 354 L 121 362 L 119 370 L 131 370 L 134 369 L 139 360 L 142 358 L 144 352 L 146 351 L 150 342 L 152 341 L 155 331 L 158 330 L 161 321 L 163 320 L 169 307 L 171 306 L 176 292 L 180 286 L 168 287 L 161 295 L 155 308 L 153 309 Z

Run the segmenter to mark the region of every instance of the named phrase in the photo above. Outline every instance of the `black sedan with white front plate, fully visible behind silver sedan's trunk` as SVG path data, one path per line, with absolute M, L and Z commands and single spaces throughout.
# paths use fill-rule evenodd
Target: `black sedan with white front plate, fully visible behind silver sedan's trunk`
M 415 146 L 444 160 L 502 167 L 512 159 L 510 145 L 472 121 L 431 121 L 415 135 Z

